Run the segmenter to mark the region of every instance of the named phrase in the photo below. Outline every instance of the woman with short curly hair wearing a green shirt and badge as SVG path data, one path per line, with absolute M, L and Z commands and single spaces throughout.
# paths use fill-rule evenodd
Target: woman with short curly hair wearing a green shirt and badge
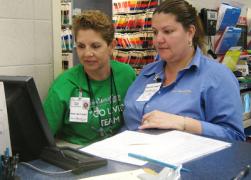
M 73 21 L 80 64 L 53 82 L 44 110 L 54 135 L 88 145 L 122 127 L 123 101 L 135 72 L 129 65 L 110 59 L 116 41 L 106 14 L 89 10 Z

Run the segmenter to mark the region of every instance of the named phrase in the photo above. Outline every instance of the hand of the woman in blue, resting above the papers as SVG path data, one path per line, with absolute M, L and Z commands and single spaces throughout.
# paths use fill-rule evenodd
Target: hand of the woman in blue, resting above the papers
M 183 131 L 185 128 L 185 117 L 162 111 L 152 111 L 143 116 L 139 129 L 158 128 L 176 129 Z

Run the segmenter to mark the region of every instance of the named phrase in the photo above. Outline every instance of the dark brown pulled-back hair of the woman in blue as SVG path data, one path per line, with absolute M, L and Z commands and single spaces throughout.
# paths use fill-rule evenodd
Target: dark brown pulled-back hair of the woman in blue
M 199 46 L 204 50 L 204 30 L 197 11 L 191 4 L 184 0 L 165 0 L 155 9 L 153 14 L 156 13 L 175 15 L 176 21 L 181 23 L 186 30 L 190 25 L 194 25 L 196 32 L 193 38 L 193 45 L 195 48 Z

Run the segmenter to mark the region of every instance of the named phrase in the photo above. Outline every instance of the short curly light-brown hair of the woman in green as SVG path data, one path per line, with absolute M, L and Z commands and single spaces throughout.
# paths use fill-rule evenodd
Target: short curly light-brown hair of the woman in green
M 114 39 L 114 26 L 111 18 L 99 10 L 86 10 L 73 17 L 73 33 L 76 36 L 79 30 L 92 29 L 99 32 L 103 39 L 110 44 Z

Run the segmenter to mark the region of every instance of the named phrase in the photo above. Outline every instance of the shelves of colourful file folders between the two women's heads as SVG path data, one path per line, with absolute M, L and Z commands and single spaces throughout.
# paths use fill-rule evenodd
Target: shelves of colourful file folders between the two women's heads
M 113 0 L 117 46 L 113 59 L 130 64 L 137 73 L 155 60 L 152 14 L 158 0 Z

